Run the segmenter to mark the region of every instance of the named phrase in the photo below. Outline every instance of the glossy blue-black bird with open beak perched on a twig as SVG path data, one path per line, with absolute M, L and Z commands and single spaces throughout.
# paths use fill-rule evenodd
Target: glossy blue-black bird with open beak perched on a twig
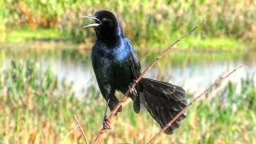
M 161 127 L 166 126 L 186 106 L 185 90 L 150 78 L 142 78 L 137 86 L 131 89 L 131 83 L 141 74 L 141 66 L 133 44 L 122 32 L 118 18 L 108 10 L 99 10 L 94 16 L 83 18 L 90 18 L 95 22 L 83 28 L 94 27 L 96 32 L 97 40 L 92 48 L 91 60 L 106 105 L 110 110 L 114 110 L 119 102 L 114 95 L 115 90 L 121 91 L 122 94 L 130 90 L 134 111 L 138 114 L 142 103 Z M 121 111 L 122 106 L 118 109 L 118 112 Z M 184 118 L 186 115 L 182 114 L 165 131 L 166 134 L 172 134 Z M 106 111 L 103 125 L 109 128 L 106 126 Z

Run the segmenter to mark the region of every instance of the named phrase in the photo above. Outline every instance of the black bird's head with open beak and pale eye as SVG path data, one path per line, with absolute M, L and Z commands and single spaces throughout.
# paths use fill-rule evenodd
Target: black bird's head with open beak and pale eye
M 82 28 L 93 27 L 97 38 L 110 39 L 123 36 L 118 18 L 108 10 L 99 10 L 94 16 L 83 16 L 82 18 L 90 18 L 94 20 L 95 23 L 83 26 Z

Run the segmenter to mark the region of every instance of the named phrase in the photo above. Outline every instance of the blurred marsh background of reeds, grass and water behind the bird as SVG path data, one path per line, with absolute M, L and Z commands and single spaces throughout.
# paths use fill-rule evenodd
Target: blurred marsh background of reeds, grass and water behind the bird
M 90 61 L 94 30 L 82 19 L 111 10 L 134 43 L 142 70 L 167 46 L 205 20 L 146 75 L 185 88 L 188 102 L 222 74 L 242 69 L 187 110 L 161 143 L 256 143 L 256 2 L 0 1 L 0 143 L 56 143 L 74 127 L 75 114 L 93 141 L 102 127 L 102 98 Z M 118 98 L 122 94 L 118 93 Z M 102 142 L 145 143 L 160 130 L 130 99 Z M 65 143 L 82 143 L 76 130 Z

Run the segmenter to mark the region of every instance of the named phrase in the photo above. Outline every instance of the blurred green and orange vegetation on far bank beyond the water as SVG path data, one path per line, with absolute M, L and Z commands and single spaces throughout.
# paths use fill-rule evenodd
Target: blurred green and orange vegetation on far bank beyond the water
M 138 47 L 166 47 L 202 20 L 205 20 L 205 25 L 195 31 L 194 35 L 197 39 L 206 38 L 206 43 L 194 42 L 194 38 L 191 38 L 190 42 L 185 42 L 185 47 L 216 48 L 229 45 L 229 42 L 234 43 L 238 39 L 238 43 L 254 42 L 256 39 L 254 1 L 6 0 L 1 4 L 0 10 L 3 13 L 0 14 L 0 30 L 8 32 L 23 26 L 33 29 L 54 28 L 62 31 L 62 38 L 69 38 L 74 42 L 94 42 L 93 30 L 81 28 L 91 21 L 86 21 L 81 16 L 94 14 L 102 9 L 112 10 L 118 15 L 124 32 Z M 55 36 L 58 34 L 54 34 L 53 38 Z M 214 41 L 217 39 L 217 44 L 210 44 L 212 38 Z M 224 38 L 224 42 L 218 40 L 221 38 Z M 234 45 L 237 46 L 236 43 Z

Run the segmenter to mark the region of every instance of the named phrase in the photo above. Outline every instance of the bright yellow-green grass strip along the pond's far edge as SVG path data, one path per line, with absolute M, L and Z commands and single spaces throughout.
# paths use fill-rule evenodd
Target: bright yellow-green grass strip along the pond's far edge
M 168 42 L 156 43 L 150 41 L 146 44 L 145 47 L 135 46 L 137 50 L 156 50 L 163 49 L 170 45 L 171 42 L 174 42 L 179 34 L 176 34 L 177 37 L 171 38 Z M 94 37 L 93 37 L 94 38 Z M 34 42 L 38 40 L 50 41 L 62 39 L 64 42 L 68 41 L 68 36 L 63 36 L 60 31 L 56 29 L 35 29 L 30 28 L 11 30 L 6 34 L 5 43 L 25 43 L 25 42 Z M 92 41 L 93 42 L 93 41 Z M 93 43 L 87 43 L 86 48 L 90 48 Z M 151 44 L 152 43 L 152 44 Z M 245 42 L 237 40 L 235 38 L 198 38 L 191 34 L 188 38 L 182 40 L 178 43 L 178 50 L 192 50 L 192 51 L 206 51 L 206 52 L 237 52 L 237 51 L 246 51 L 248 46 Z

